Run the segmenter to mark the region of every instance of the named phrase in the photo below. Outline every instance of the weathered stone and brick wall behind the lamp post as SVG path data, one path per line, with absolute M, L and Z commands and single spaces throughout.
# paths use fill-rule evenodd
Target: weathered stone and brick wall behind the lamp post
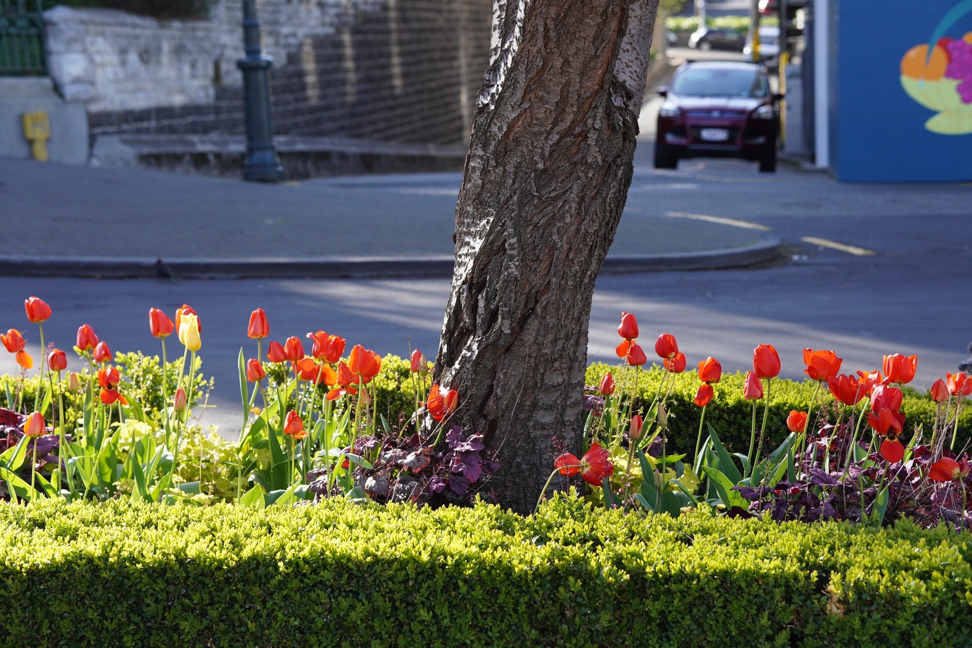
M 259 11 L 275 133 L 468 140 L 491 0 L 262 0 Z M 47 18 L 52 76 L 87 95 L 92 135 L 243 132 L 240 0 L 207 21 L 65 8 Z

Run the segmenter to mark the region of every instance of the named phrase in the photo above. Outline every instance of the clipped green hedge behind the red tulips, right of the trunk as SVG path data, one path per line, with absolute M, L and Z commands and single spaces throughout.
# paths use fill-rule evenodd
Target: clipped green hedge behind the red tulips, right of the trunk
M 587 368 L 586 384 L 598 385 L 606 371 L 610 371 L 615 380 L 620 378 L 622 386 L 625 385 L 623 381 L 629 381 L 629 387 L 625 389 L 632 389 L 630 376 L 635 374 L 632 369 L 621 368 L 619 371 L 619 367 L 602 362 Z M 651 403 L 662 377 L 666 374 L 667 372 L 657 364 L 637 373 L 637 387 L 634 389 L 643 403 L 646 405 Z M 742 372 L 722 374 L 722 380 L 713 386 L 715 397 L 706 409 L 706 421 L 711 423 L 718 432 L 719 439 L 734 452 L 742 453 L 749 448 L 752 425 L 752 401 L 743 398 L 745 377 L 746 374 Z M 694 369 L 675 377 L 672 393 L 675 402 L 669 409 L 669 440 L 672 444 L 670 447 L 677 448 L 679 451 L 691 451 L 695 448 L 701 410 L 696 407 L 692 399 L 699 385 L 699 374 Z M 770 392 L 770 413 L 766 424 L 767 438 L 771 447 L 776 447 L 789 434 L 789 430 L 786 429 L 786 415 L 790 410 L 806 411 L 814 397 L 814 390 L 816 390 L 816 382 L 809 379 L 799 383 L 774 379 Z M 935 403 L 926 393 L 908 388 L 904 392 L 905 398 L 901 411 L 905 413 L 905 439 L 911 439 L 911 431 L 915 426 L 923 426 L 924 430 L 930 433 L 935 419 Z M 824 385 L 820 389 L 817 402 L 829 405 L 833 401 L 833 396 Z M 760 401 L 756 414 L 757 430 L 763 420 L 762 402 Z M 857 413 L 860 413 L 860 405 L 857 407 Z M 831 423 L 836 423 L 833 412 L 830 415 Z M 867 423 L 865 422 L 864 425 L 866 426 Z M 970 432 L 972 432 L 972 408 L 965 407 L 959 416 L 956 449 L 969 441 L 972 437 Z

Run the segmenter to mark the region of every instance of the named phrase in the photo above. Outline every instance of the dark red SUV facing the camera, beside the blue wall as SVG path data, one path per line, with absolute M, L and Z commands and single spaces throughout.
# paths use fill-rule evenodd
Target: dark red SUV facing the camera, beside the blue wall
M 781 94 L 766 70 L 752 63 L 685 63 L 658 113 L 655 168 L 674 169 L 682 157 L 742 157 L 759 170 L 777 170 Z

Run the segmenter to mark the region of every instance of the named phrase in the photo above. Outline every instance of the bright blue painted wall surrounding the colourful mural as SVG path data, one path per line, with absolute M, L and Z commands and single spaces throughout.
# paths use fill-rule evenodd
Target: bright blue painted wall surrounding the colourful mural
M 818 0 L 819 1 L 819 0 Z M 959 0 L 832 0 L 832 169 L 851 182 L 972 180 L 972 133 L 945 135 L 902 87 L 901 59 L 927 43 Z M 962 4 L 964 7 L 964 4 Z M 972 13 L 947 30 L 972 32 Z M 833 63 L 836 62 L 836 66 Z M 972 105 L 966 107 L 972 111 Z

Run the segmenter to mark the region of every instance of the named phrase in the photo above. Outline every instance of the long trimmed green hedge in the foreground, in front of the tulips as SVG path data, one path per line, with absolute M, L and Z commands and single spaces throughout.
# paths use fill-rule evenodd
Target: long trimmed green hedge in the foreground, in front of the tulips
M 0 636 L 46 646 L 967 646 L 969 535 L 329 501 L 0 506 Z

